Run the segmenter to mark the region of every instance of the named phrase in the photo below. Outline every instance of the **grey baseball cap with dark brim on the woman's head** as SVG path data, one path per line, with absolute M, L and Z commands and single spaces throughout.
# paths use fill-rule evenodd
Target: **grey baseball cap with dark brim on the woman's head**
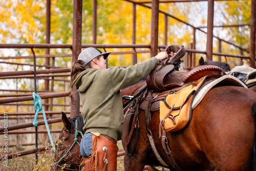
M 78 55 L 77 60 L 82 60 L 84 62 L 83 63 L 83 67 L 84 67 L 87 65 L 87 63 L 89 63 L 91 60 L 93 60 L 97 56 L 103 55 L 104 59 L 106 59 L 110 53 L 111 52 L 102 53 L 100 50 L 96 48 L 86 48 L 86 49 L 83 49 L 83 51 Z

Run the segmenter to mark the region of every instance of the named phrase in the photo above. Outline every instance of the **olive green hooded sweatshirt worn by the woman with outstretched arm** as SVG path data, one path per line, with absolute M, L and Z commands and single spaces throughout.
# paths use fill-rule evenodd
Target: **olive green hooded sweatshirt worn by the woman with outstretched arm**
M 125 69 L 90 68 L 81 72 L 74 84 L 82 103 L 83 130 L 120 140 L 124 120 L 120 90 L 143 79 L 157 63 L 152 57 Z

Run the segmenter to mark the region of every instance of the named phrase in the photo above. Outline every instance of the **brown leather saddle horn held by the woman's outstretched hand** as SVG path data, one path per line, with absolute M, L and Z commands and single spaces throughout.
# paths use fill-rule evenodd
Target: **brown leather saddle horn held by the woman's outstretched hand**
M 180 44 L 172 44 L 169 45 L 165 48 L 164 52 L 167 52 L 167 54 L 169 55 L 171 52 L 176 53 L 173 57 L 171 57 L 168 60 L 168 64 L 174 64 L 175 62 L 177 62 L 178 60 L 180 60 L 185 54 L 186 54 L 186 50 L 184 48 L 184 46 L 180 45 Z

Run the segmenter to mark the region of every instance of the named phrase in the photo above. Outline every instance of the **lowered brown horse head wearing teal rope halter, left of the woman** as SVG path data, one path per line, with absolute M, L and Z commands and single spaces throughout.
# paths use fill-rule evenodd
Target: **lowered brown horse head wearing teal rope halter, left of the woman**
M 78 115 L 68 119 L 67 115 L 62 112 L 62 122 L 64 127 L 56 142 L 55 153 L 55 170 L 74 169 L 79 170 L 81 160 L 80 142 L 83 131 L 83 117 Z

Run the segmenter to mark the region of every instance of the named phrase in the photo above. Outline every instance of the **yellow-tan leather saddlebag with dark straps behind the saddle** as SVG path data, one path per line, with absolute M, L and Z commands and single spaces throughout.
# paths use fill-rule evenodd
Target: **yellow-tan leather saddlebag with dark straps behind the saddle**
M 176 94 L 169 94 L 164 99 L 160 99 L 159 116 L 164 131 L 176 132 L 188 124 L 191 119 L 191 102 L 206 77 L 193 82 Z

